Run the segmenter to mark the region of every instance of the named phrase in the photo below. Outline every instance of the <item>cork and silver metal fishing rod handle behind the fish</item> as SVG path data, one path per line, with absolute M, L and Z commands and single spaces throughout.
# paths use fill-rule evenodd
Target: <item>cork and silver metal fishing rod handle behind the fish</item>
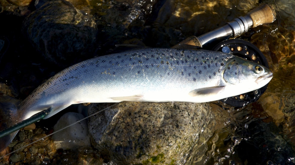
M 254 8 L 246 15 L 235 18 L 233 21 L 226 23 L 211 32 L 202 34 L 198 37 L 191 36 L 172 46 L 172 48 L 181 49 L 201 49 L 211 43 L 220 42 L 229 38 L 238 37 L 247 32 L 250 28 L 255 28 L 259 25 L 273 23 L 276 20 L 276 12 L 268 4 L 261 4 Z

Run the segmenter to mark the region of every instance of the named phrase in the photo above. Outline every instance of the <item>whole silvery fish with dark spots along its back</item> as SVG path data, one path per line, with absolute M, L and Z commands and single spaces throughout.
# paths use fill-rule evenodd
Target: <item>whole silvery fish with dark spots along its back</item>
M 52 109 L 45 117 L 49 118 L 78 103 L 210 102 L 259 89 L 272 77 L 267 67 L 222 52 L 135 49 L 72 65 L 23 101 L 0 95 L 0 108 L 9 109 L 0 117 L 6 123 L 3 127 L 8 127 L 45 109 Z M 0 139 L 0 150 L 16 133 Z

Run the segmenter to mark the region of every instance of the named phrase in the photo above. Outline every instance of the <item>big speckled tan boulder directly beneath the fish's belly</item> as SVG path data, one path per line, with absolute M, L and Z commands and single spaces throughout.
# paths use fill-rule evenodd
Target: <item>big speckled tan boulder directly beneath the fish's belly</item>
M 88 111 L 105 107 L 92 104 Z M 182 164 L 192 161 L 192 151 L 211 119 L 207 103 L 122 102 L 91 117 L 88 128 L 105 161 Z

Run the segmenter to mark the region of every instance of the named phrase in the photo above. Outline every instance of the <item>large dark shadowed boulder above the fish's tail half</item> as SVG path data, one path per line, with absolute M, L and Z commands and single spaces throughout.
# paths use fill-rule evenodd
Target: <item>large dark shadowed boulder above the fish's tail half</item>
M 59 66 L 93 56 L 96 24 L 68 1 L 46 2 L 25 18 L 22 31 L 48 61 Z

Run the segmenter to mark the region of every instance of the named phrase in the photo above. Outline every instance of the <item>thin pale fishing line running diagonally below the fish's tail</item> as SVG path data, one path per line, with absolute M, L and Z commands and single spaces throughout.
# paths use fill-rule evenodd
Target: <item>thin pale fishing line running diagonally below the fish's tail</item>
M 102 110 L 100 110 L 100 111 L 95 112 L 94 114 L 91 114 L 91 115 L 89 115 L 89 116 L 87 116 L 87 117 L 84 117 L 84 118 L 81 119 L 81 120 L 78 120 L 78 121 L 76 121 L 76 122 L 74 122 L 74 123 L 72 123 L 72 124 L 70 124 L 70 125 L 68 125 L 68 126 L 65 126 L 64 128 L 61 128 L 61 129 L 59 129 L 59 130 L 57 130 L 57 131 L 55 131 L 55 132 L 53 132 L 53 133 L 50 133 L 50 134 L 48 134 L 48 135 L 46 135 L 46 136 L 44 136 L 44 137 L 42 137 L 42 138 L 40 138 L 40 139 L 38 139 L 38 140 L 36 140 L 36 141 L 34 141 L 34 142 L 31 142 L 30 144 L 27 144 L 27 145 L 25 145 L 25 146 L 23 146 L 23 147 L 21 147 L 21 148 L 19 148 L 19 149 L 17 149 L 17 150 L 14 150 L 14 151 L 12 151 L 12 152 L 10 152 L 10 153 L 8 153 L 8 154 L 6 154 L 6 155 L 0 157 L 0 159 L 1 159 L 1 158 L 4 158 L 4 157 L 7 156 L 7 155 L 13 154 L 13 153 L 15 153 L 15 152 L 17 152 L 17 151 L 19 151 L 19 150 L 22 150 L 22 149 L 24 149 L 25 147 L 27 147 L 27 146 L 29 146 L 29 145 L 31 145 L 31 144 L 34 144 L 34 143 L 36 143 L 36 142 L 38 142 L 38 141 L 40 141 L 40 140 L 42 140 L 42 139 L 44 139 L 44 138 L 47 138 L 48 136 L 51 136 L 51 135 L 53 135 L 54 133 L 57 133 L 57 132 L 62 131 L 62 130 L 64 130 L 64 129 L 68 128 L 68 127 L 71 127 L 72 125 L 77 124 L 78 122 L 81 122 L 81 121 L 83 121 L 83 120 L 85 120 L 85 119 L 88 119 L 89 117 L 94 116 L 94 115 L 96 115 L 96 114 L 98 114 L 98 113 L 100 113 L 100 112 L 102 112 L 102 111 L 105 111 L 106 109 L 111 108 L 111 107 L 113 107 L 113 106 L 115 106 L 115 105 L 117 105 L 117 104 L 118 104 L 118 103 L 115 103 L 115 104 L 113 104 L 113 105 L 111 105 L 111 106 L 106 107 L 105 109 L 102 109 Z

